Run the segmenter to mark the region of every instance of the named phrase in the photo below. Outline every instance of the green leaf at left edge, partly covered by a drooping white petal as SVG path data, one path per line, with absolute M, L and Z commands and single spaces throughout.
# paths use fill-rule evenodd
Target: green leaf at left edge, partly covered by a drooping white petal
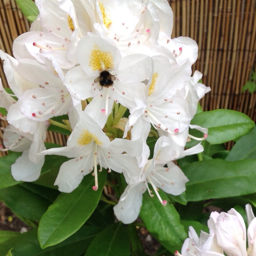
M 0 157 L 0 188 L 10 187 L 21 183 L 12 178 L 11 165 L 15 163 L 16 159 L 21 156 L 21 153 L 12 152 L 7 156 Z

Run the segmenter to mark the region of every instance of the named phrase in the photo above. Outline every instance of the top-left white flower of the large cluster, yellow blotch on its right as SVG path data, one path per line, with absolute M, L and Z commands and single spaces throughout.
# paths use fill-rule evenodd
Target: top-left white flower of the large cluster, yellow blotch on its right
M 71 0 L 38 0 L 38 20 L 30 32 L 17 37 L 13 43 L 15 58 L 36 59 L 44 64 L 42 53 L 50 53 L 61 68 L 72 68 L 76 63 L 76 45 L 82 37 Z

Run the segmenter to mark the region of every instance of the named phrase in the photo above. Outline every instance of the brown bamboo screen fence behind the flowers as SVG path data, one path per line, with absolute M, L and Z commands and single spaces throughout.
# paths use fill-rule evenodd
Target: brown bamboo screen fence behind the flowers
M 234 109 L 255 121 L 256 93 L 241 93 L 241 89 L 256 70 L 256 0 L 169 2 L 174 14 L 172 38 L 189 36 L 199 47 L 193 71 L 202 72 L 203 83 L 212 88 L 201 101 L 203 109 Z M 26 31 L 29 23 L 15 0 L 0 0 L 0 49 L 12 54 L 13 40 Z M 2 64 L 0 76 L 7 87 Z M 6 125 L 1 120 L 1 127 Z M 2 142 L 1 131 L 0 137 Z M 48 142 L 65 144 L 66 139 L 48 132 Z

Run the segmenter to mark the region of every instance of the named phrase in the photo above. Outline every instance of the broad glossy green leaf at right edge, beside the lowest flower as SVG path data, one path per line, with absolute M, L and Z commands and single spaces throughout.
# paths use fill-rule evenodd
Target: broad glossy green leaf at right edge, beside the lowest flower
M 241 196 L 256 192 L 256 160 L 205 160 L 182 168 L 189 181 L 188 201 Z

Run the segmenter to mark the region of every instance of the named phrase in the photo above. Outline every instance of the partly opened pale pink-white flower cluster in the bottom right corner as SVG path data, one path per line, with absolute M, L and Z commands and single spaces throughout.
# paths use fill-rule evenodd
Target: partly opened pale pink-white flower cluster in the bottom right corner
M 255 225 L 256 218 L 250 204 L 245 205 L 247 215 L 247 235 L 242 215 L 234 208 L 226 212 L 212 212 L 208 220 L 210 234 L 201 231 L 197 236 L 195 229 L 190 226 L 187 238 L 182 246 L 181 254 L 188 255 L 228 255 L 228 256 L 254 256 L 256 255 Z M 248 248 L 246 248 L 246 236 Z M 176 256 L 181 256 L 176 251 Z

